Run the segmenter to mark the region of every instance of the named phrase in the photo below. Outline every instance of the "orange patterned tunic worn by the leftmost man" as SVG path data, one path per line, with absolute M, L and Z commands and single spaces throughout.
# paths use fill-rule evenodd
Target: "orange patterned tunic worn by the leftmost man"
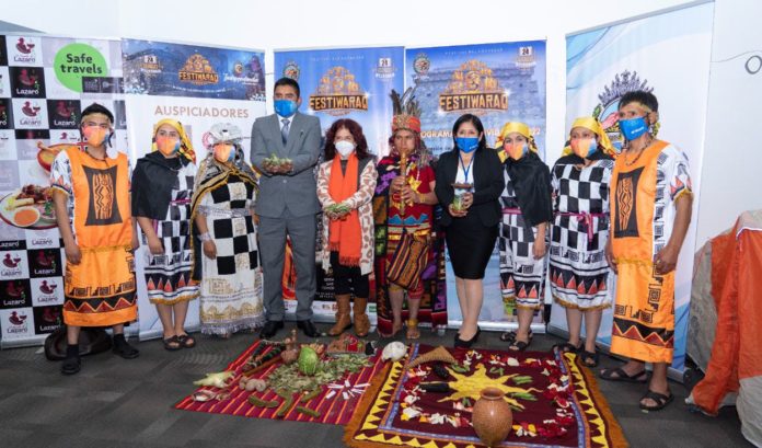
M 127 156 L 96 160 L 68 148 L 73 227 L 82 253 L 67 261 L 64 322 L 109 326 L 137 319 Z

